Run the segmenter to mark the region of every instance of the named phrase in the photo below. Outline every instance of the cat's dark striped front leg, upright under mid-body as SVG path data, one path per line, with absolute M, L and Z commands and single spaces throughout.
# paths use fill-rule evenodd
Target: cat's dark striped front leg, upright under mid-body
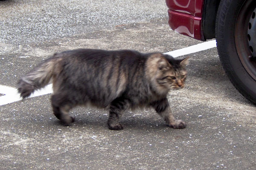
M 108 117 L 108 128 L 110 130 L 122 130 L 123 127 L 119 123 L 119 119 L 122 113 L 129 108 L 129 100 L 117 98 L 111 102 L 109 117 Z

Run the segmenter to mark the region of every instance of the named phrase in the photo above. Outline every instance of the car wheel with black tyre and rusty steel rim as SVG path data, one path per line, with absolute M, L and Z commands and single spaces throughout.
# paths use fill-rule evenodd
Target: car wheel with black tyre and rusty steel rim
M 256 104 L 256 1 L 221 0 L 215 37 L 221 63 L 236 89 Z

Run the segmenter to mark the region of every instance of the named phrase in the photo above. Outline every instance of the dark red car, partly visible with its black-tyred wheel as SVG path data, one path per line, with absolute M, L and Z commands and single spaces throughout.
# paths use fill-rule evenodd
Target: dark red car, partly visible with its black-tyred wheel
M 197 40 L 216 38 L 236 89 L 256 104 L 256 0 L 166 0 L 171 28 Z

